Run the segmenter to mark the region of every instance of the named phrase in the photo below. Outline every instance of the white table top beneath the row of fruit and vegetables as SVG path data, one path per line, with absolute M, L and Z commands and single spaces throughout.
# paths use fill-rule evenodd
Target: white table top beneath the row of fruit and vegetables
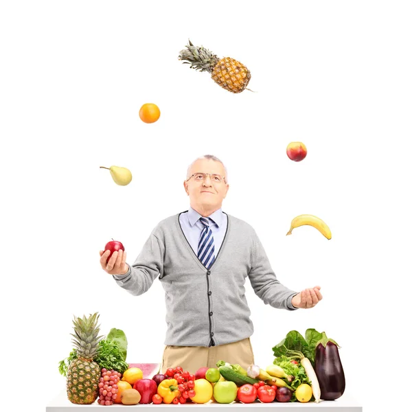
M 168 412 L 174 411 L 176 408 L 183 408 L 185 412 L 224 412 L 231 411 L 240 412 L 240 409 L 244 409 L 244 412 L 258 412 L 265 409 L 275 409 L 275 412 L 304 412 L 304 411 L 321 411 L 321 412 L 362 412 L 361 404 L 354 399 L 350 393 L 343 393 L 343 396 L 337 400 L 321 400 L 321 402 L 271 402 L 262 403 L 260 401 L 255 401 L 251 404 L 242 404 L 239 402 L 232 402 L 231 404 L 219 404 L 217 402 L 209 402 L 207 404 L 194 404 L 192 402 L 187 404 L 137 404 L 137 405 L 124 405 L 124 404 L 113 404 L 110 406 L 103 406 L 97 402 L 90 405 L 77 405 L 72 404 L 67 399 L 67 393 L 63 390 L 61 393 L 49 402 L 46 407 L 46 412 L 68 412 L 68 409 L 77 408 L 76 412 L 96 412 L 96 411 L 106 411 L 106 412 L 128 412 L 130 409 L 139 409 L 141 412 L 155 412 L 155 409 L 167 408 Z M 146 411 L 143 411 L 146 409 Z M 73 411 L 74 412 L 74 411 Z M 157 411 L 160 412 L 160 411 Z

